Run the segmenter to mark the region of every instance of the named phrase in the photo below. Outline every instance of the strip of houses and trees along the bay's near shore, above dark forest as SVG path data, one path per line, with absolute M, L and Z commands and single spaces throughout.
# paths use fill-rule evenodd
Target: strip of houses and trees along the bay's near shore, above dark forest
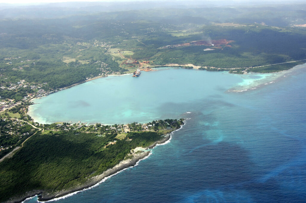
M 40 131 L 42 135 L 50 134 L 57 131 L 69 131 L 75 135 L 80 133 L 94 133 L 97 137 L 105 137 L 111 135 L 114 137 L 112 142 L 109 142 L 106 146 L 116 144 L 117 140 L 129 139 L 130 132 L 157 132 L 163 136 L 170 132 L 180 128 L 184 124 L 184 120 L 180 119 L 166 119 L 155 120 L 146 124 L 131 123 L 131 124 L 114 124 L 114 125 L 102 125 L 100 123 L 88 124 L 81 123 L 54 123 L 54 124 L 39 124 L 34 122 L 30 116 L 27 115 L 26 105 L 17 105 L 10 109 L 0 113 L 0 158 L 1 161 L 8 155 L 9 152 L 13 152 L 23 146 L 23 143 Z M 14 116 L 12 118 L 12 116 Z M 105 146 L 105 147 L 106 147 Z M 14 150 L 15 149 L 15 150 Z

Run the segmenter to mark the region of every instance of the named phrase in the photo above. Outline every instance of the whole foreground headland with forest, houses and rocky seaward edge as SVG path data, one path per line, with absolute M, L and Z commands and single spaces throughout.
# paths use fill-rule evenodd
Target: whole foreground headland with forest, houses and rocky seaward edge
M 0 121 L 11 127 L 26 123 Z M 167 119 L 111 126 L 40 125 L 12 156 L 1 160 L 0 201 L 21 202 L 36 194 L 47 201 L 91 187 L 134 166 L 183 124 L 183 119 Z

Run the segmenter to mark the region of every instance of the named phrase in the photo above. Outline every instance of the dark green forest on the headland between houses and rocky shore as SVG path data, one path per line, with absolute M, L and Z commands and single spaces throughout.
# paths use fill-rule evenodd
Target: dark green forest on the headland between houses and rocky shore
M 12 158 L 0 163 L 0 201 L 33 190 L 54 192 L 73 188 L 114 167 L 131 149 L 148 147 L 163 138 L 151 131 L 131 132 L 122 140 L 115 136 L 38 132 Z

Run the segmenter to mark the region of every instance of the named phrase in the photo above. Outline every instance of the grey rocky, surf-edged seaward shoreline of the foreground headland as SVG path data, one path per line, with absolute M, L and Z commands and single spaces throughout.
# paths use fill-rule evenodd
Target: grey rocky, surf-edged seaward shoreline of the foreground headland
M 182 126 L 183 125 L 181 125 L 181 127 Z M 179 129 L 181 129 L 181 127 Z M 157 145 L 166 143 L 168 140 L 170 140 L 171 133 L 167 134 L 166 136 L 164 135 L 164 138 L 162 138 L 159 141 L 154 142 L 152 145 L 148 146 L 147 149 L 153 149 Z M 107 169 L 102 174 L 96 175 L 88 179 L 84 184 L 80 184 L 74 188 L 60 190 L 60 191 L 33 190 L 33 191 L 27 192 L 23 196 L 11 198 L 10 200 L 5 201 L 5 202 L 19 203 L 19 202 L 25 201 L 26 199 L 31 199 L 35 196 L 38 196 L 38 201 L 56 201 L 58 199 L 66 198 L 76 193 L 79 193 L 81 191 L 89 190 L 95 186 L 98 186 L 100 183 L 103 183 L 106 179 L 110 178 L 111 176 L 116 175 L 119 172 L 129 167 L 133 167 L 137 165 L 139 161 L 149 157 L 150 154 L 151 154 L 151 151 L 134 154 L 133 158 L 120 161 L 119 164 L 115 165 L 113 168 Z

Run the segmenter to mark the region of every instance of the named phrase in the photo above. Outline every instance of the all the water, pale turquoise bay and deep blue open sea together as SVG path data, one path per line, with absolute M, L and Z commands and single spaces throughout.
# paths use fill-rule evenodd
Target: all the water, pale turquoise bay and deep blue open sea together
M 56 201 L 305 202 L 305 77 L 306 65 L 247 76 L 165 69 L 35 100 L 30 115 L 47 123 L 190 118 L 136 167 Z

